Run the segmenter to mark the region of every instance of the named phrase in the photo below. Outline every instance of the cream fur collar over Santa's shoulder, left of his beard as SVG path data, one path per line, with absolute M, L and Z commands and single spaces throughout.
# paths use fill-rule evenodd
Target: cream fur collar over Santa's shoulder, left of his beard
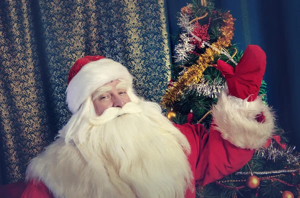
M 104 166 L 97 162 L 92 169 L 73 144 L 59 138 L 32 159 L 26 170 L 26 181 L 43 182 L 54 198 L 121 198 Z

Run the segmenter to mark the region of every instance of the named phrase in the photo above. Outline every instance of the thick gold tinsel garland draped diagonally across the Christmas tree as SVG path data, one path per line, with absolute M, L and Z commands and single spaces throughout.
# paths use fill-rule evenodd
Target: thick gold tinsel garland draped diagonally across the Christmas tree
M 226 48 L 231 44 L 234 30 L 233 21 L 235 19 L 232 18 L 229 11 L 220 13 L 220 16 L 224 22 L 220 27 L 221 36 L 211 45 L 221 50 L 221 48 Z M 214 60 L 214 55 L 216 54 L 219 53 L 212 48 L 207 48 L 205 52 L 199 56 L 197 62 L 190 66 L 172 87 L 166 90 L 161 105 L 165 108 L 169 108 L 171 104 L 179 99 L 179 96 L 187 85 L 201 82 L 204 70 L 211 65 Z

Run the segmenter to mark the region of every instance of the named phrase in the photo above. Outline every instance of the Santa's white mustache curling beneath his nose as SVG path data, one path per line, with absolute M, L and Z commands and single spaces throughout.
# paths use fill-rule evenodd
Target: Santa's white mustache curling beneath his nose
M 89 122 L 93 125 L 101 125 L 109 122 L 124 114 L 136 114 L 142 112 L 142 104 L 136 104 L 134 102 L 126 103 L 122 108 L 110 107 L 106 109 L 100 116 L 89 117 Z

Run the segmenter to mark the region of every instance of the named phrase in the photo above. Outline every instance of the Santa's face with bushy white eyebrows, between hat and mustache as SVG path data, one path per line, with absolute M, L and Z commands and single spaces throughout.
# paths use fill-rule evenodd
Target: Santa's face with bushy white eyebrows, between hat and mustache
M 130 102 L 126 89 L 125 83 L 119 80 L 111 81 L 98 88 L 92 94 L 96 114 L 100 116 L 110 107 L 123 107 L 124 104 Z

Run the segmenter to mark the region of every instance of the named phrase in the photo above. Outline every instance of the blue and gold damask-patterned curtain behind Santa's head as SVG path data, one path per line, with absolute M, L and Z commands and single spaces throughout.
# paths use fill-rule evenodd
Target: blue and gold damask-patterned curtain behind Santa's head
M 85 55 L 122 63 L 137 94 L 160 101 L 170 66 L 163 0 L 0 2 L 0 184 L 24 178 L 28 161 L 70 117 L 69 68 Z

